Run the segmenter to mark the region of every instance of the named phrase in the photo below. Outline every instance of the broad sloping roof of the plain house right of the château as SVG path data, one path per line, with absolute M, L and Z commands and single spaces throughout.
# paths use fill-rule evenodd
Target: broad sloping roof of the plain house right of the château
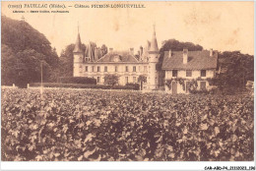
M 218 52 L 214 51 L 188 51 L 188 62 L 183 64 L 183 51 L 172 51 L 168 57 L 168 51 L 164 52 L 162 70 L 206 70 L 216 69 L 218 63 Z

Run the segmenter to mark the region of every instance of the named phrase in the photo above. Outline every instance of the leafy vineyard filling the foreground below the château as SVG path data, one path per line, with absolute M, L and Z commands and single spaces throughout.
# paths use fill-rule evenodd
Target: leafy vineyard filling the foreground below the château
M 2 89 L 4 161 L 252 161 L 253 97 Z

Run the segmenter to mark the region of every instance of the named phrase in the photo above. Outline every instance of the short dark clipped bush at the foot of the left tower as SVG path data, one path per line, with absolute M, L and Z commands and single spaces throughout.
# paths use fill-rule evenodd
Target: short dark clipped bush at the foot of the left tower
M 61 77 L 60 83 L 62 83 L 62 84 L 96 85 L 96 79 L 86 78 L 86 77 Z

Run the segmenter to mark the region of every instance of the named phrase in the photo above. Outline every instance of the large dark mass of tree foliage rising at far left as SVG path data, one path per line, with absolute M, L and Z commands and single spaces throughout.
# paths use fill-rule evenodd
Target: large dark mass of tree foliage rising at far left
M 43 66 L 43 79 L 49 81 L 52 70 L 58 65 L 55 48 L 28 23 L 5 16 L 1 19 L 2 85 L 26 86 L 40 81 L 40 63 Z

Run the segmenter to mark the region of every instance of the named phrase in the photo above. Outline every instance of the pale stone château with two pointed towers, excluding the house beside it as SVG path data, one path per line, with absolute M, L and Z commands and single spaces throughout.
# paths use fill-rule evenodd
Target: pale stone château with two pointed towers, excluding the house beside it
M 104 84 L 104 76 L 113 74 L 119 76 L 119 85 L 138 83 L 139 76 L 147 78 L 143 84 L 144 89 L 157 89 L 159 87 L 159 74 L 156 65 L 159 62 L 160 50 L 156 31 L 154 29 L 152 41 L 148 42 L 145 48 L 140 48 L 139 59 L 135 57 L 134 49 L 129 51 L 115 51 L 109 48 L 107 54 L 98 59 L 100 51 L 93 52 L 91 44 L 87 51 L 82 50 L 80 33 L 73 51 L 74 54 L 74 77 L 95 78 L 97 84 Z

